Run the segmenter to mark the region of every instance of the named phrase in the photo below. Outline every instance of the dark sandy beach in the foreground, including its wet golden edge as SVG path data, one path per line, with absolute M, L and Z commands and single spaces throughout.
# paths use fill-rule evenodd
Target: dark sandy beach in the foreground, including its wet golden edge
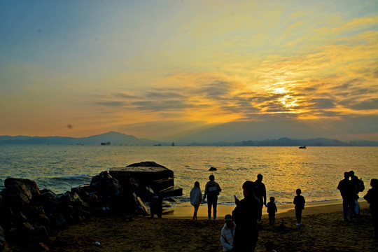
M 339 202 L 307 206 L 301 227 L 295 225 L 293 209 L 279 209 L 275 225 L 264 214 L 255 251 L 265 251 L 267 241 L 276 251 L 378 251 L 367 202 L 361 201 L 360 207 L 360 218 L 344 222 Z M 163 218 L 95 217 L 58 232 L 46 245 L 50 251 L 222 251 L 223 214 L 234 208 L 218 206 L 218 221 L 207 221 L 205 205 L 197 221 L 191 220 L 190 207 L 176 208 Z

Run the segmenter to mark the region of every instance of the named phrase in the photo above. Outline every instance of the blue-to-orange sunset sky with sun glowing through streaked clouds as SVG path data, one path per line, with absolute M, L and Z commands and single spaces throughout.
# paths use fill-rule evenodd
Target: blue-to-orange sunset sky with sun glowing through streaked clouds
M 0 1 L 0 135 L 211 129 L 378 141 L 378 1 Z

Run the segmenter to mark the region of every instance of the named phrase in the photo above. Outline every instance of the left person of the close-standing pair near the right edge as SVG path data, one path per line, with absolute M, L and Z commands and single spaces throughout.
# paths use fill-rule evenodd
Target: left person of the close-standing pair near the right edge
M 349 180 L 349 172 L 344 172 L 344 179 L 337 186 L 342 195 L 342 214 L 344 221 L 353 220 L 355 192 L 352 181 Z

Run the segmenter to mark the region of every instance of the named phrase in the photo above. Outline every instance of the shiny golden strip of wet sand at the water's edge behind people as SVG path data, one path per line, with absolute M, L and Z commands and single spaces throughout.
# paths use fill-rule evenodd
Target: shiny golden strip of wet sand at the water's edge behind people
M 358 203 L 360 204 L 360 209 L 367 209 L 369 207 L 369 204 L 363 198 L 360 198 Z M 232 214 L 235 207 L 235 205 L 218 204 L 217 218 L 224 219 L 226 214 Z M 294 204 L 277 205 L 277 209 L 276 217 L 278 218 L 295 216 Z M 305 204 L 302 215 L 328 214 L 338 211 L 342 211 L 342 200 L 309 202 Z M 172 207 L 171 209 L 163 210 L 163 218 L 191 219 L 193 218 L 193 212 L 193 206 Z M 266 207 L 262 208 L 262 217 L 264 218 L 264 216 L 267 217 Z M 207 204 L 201 204 L 200 209 L 198 209 L 197 218 L 198 220 L 207 220 Z

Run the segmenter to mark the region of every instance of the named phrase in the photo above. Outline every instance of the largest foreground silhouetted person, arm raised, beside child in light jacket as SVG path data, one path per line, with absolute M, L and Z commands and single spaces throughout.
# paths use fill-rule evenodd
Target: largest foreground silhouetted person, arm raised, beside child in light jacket
M 257 221 L 261 214 L 260 200 L 253 193 L 255 185 L 252 181 L 243 184 L 243 200 L 235 197 L 232 218 L 235 221 L 234 251 L 255 251 L 258 239 Z

